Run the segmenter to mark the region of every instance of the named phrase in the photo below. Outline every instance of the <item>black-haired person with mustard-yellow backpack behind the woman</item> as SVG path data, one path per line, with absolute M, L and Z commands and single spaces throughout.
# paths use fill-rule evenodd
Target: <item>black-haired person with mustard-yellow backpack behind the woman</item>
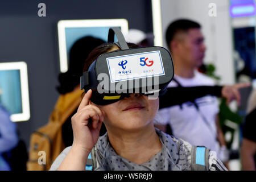
M 49 121 L 47 125 L 31 135 L 30 157 L 27 163 L 29 171 L 48 170 L 51 162 L 55 160 L 60 152 L 65 147 L 72 145 L 71 117 L 77 112 L 77 108 L 82 100 L 80 77 L 82 76 L 84 62 L 89 53 L 102 43 L 104 43 L 104 40 L 85 36 L 77 40 L 71 47 L 68 54 L 68 71 L 59 74 L 59 86 L 56 89 L 60 96 L 49 117 Z M 105 127 L 102 125 L 101 134 L 105 132 Z M 49 139 L 51 143 L 48 143 Z M 38 142 L 38 140 L 41 142 Z M 37 162 L 39 151 L 46 152 L 46 160 L 49 162 L 44 166 Z

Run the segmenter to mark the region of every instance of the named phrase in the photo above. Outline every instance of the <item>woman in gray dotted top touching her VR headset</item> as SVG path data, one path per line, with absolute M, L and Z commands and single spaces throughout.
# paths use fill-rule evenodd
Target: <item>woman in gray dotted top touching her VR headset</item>
M 137 46 L 129 44 L 132 47 Z M 98 56 L 118 49 L 114 43 L 97 47 L 84 71 Z M 93 170 L 226 170 L 214 151 L 204 148 L 207 160 L 197 164 L 191 154 L 196 147 L 154 127 L 159 98 L 149 100 L 133 93 L 112 104 L 96 105 L 90 101 L 93 94 L 97 93 L 88 90 L 82 98 L 72 117 L 73 144 L 58 156 L 51 170 L 85 170 L 89 154 Z M 99 137 L 102 122 L 107 133 Z

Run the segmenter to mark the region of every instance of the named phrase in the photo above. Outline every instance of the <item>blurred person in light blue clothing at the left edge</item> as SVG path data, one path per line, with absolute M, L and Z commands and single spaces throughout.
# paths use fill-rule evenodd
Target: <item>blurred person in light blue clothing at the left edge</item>
M 10 171 L 10 163 L 3 156 L 18 144 L 16 125 L 10 120 L 9 112 L 1 104 L 2 90 L 0 87 L 0 171 Z

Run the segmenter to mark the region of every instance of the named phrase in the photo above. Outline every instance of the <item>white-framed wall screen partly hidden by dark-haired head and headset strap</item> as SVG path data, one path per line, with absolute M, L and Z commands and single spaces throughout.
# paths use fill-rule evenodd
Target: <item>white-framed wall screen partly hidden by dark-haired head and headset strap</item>
M 94 36 L 95 38 L 107 41 L 110 27 L 119 27 L 123 34 L 128 33 L 128 22 L 126 19 L 60 20 L 57 27 L 60 72 L 68 71 L 68 53 L 76 40 L 84 36 Z

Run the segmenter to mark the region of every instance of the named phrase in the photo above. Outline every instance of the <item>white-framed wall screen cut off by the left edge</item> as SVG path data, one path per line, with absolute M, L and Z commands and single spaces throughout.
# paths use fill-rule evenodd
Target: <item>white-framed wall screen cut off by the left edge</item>
M 11 114 L 11 121 L 30 119 L 27 64 L 23 61 L 0 63 L 0 103 Z

